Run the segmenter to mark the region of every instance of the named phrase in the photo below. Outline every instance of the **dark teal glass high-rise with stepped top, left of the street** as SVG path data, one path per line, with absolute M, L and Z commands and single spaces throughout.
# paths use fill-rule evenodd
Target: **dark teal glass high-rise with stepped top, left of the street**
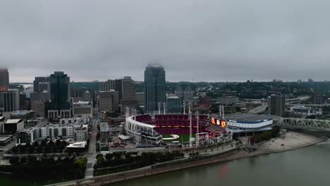
M 54 72 L 49 76 L 51 109 L 70 109 L 70 77 L 63 72 Z

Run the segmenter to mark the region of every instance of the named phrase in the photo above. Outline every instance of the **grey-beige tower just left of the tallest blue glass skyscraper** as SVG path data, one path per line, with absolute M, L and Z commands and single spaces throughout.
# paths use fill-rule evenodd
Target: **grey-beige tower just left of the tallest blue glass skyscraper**
M 138 105 L 138 100 L 136 100 L 136 91 L 135 86 L 133 85 L 133 80 L 129 76 L 126 76 L 121 82 L 121 113 L 125 113 L 127 107 L 130 110 L 135 109 Z

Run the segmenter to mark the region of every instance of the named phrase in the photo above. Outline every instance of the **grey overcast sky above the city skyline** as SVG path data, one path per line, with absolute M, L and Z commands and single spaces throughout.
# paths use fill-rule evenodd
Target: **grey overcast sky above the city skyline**
M 170 81 L 330 80 L 330 1 L 0 1 L 11 82 L 73 81 L 161 63 Z

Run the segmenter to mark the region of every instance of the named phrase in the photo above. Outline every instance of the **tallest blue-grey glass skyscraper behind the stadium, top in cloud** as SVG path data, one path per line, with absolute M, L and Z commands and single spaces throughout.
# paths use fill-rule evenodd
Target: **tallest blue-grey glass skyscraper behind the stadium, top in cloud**
M 145 68 L 145 113 L 158 111 L 159 103 L 166 102 L 165 70 L 162 66 Z

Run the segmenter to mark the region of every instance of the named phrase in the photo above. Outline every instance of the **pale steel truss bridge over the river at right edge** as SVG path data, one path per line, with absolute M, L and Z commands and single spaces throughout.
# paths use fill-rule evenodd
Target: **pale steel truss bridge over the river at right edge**
M 330 120 L 317 120 L 306 118 L 279 118 L 277 124 L 282 128 L 301 128 L 310 130 L 329 130 Z

